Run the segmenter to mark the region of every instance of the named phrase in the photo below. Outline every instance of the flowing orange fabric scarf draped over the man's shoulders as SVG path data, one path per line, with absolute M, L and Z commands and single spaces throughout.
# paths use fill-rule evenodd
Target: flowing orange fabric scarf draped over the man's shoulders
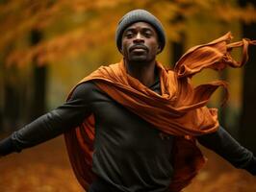
M 207 108 L 211 95 L 223 81 L 193 87 L 191 78 L 204 68 L 222 70 L 227 65 L 241 67 L 248 59 L 248 44 L 243 41 L 228 44 L 230 33 L 204 45 L 195 46 L 178 60 L 174 70 L 167 70 L 157 62 L 162 94 L 158 94 L 129 76 L 121 60 L 102 66 L 79 84 L 93 81 L 116 102 L 153 124 L 156 129 L 175 135 L 172 164 L 174 176 L 170 192 L 181 191 L 198 173 L 205 160 L 196 147 L 195 136 L 218 130 L 218 109 Z M 230 52 L 243 46 L 243 60 L 233 60 Z M 71 96 L 69 94 L 69 97 Z M 76 129 L 64 134 L 68 155 L 74 173 L 85 189 L 95 179 L 91 171 L 94 138 L 93 114 Z

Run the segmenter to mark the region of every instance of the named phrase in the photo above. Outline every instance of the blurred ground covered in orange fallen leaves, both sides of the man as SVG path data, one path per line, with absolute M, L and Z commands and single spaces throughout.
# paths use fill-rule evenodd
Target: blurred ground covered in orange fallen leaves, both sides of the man
M 184 192 L 255 192 L 256 178 L 234 169 L 219 156 L 202 149 L 207 165 Z M 82 192 L 75 179 L 64 138 L 0 158 L 0 192 Z

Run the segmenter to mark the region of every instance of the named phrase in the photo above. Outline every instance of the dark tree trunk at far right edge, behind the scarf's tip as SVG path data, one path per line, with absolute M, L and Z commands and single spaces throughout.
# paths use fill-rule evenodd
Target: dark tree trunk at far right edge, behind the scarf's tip
M 250 3 L 256 6 L 254 0 L 240 1 L 241 6 L 245 3 Z M 243 23 L 243 36 L 247 38 L 255 38 L 256 24 Z M 249 60 L 244 66 L 243 74 L 243 109 L 240 125 L 240 141 L 256 154 L 256 121 L 255 121 L 255 108 L 256 108 L 256 46 L 249 48 Z

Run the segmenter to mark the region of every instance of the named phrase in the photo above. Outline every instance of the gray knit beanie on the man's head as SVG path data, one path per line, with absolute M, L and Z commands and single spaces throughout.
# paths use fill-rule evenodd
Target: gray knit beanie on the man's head
M 118 26 L 115 32 L 115 42 L 118 50 L 121 50 L 121 40 L 122 40 L 122 34 L 124 30 L 130 26 L 133 23 L 136 22 L 146 22 L 152 25 L 159 38 L 159 43 L 161 46 L 161 51 L 164 49 L 166 45 L 166 35 L 164 31 L 164 27 L 161 24 L 161 22 L 155 17 L 152 13 L 147 12 L 145 10 L 134 10 L 131 12 L 127 12 L 118 22 Z

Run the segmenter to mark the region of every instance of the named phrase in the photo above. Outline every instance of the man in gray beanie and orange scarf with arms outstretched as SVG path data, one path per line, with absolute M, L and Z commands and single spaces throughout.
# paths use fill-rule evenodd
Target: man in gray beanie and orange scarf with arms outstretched
M 143 10 L 128 12 L 116 30 L 123 60 L 100 67 L 75 86 L 63 106 L 1 141 L 0 154 L 64 133 L 76 177 L 90 192 L 175 192 L 204 163 L 197 139 L 256 175 L 255 156 L 218 125 L 217 109 L 205 106 L 224 84 L 190 83 L 205 67 L 242 64 L 228 50 L 243 42 L 226 44 L 229 39 L 227 34 L 194 47 L 174 71 L 166 70 L 156 61 L 166 43 L 160 21 Z

